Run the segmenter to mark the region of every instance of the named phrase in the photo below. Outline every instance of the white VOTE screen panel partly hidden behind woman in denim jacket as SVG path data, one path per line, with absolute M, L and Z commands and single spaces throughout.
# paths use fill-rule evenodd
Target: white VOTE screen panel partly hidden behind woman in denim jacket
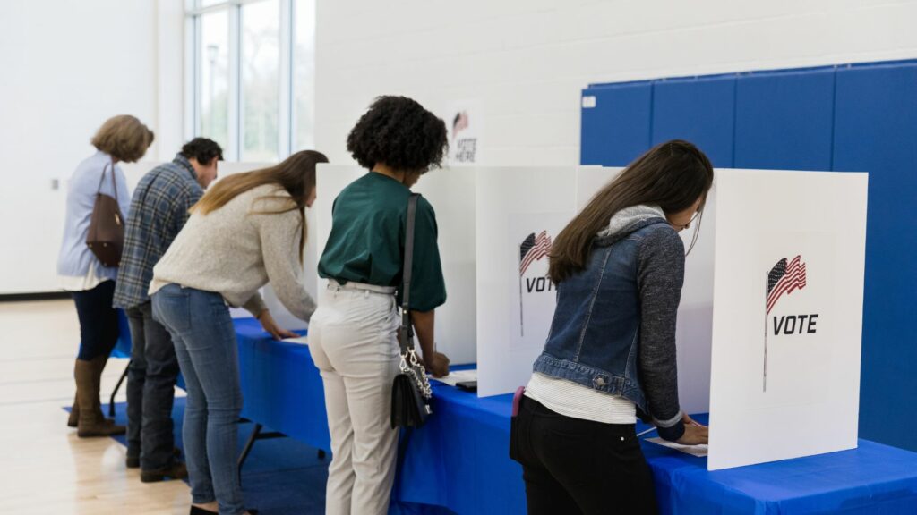
M 576 168 L 476 173 L 478 395 L 486 397 L 525 385 L 545 346 L 556 303 L 547 251 L 574 214 Z

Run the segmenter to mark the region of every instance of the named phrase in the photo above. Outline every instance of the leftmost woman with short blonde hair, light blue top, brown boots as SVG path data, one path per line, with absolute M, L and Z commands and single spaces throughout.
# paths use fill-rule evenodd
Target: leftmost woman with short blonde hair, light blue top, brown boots
M 99 382 L 118 337 L 117 312 L 112 307 L 117 266 L 105 267 L 86 246 L 95 197 L 114 197 L 127 217 L 130 194 L 118 162 L 142 158 L 153 142 L 153 131 L 135 116 L 117 115 L 105 121 L 92 139 L 95 154 L 73 172 L 67 189 L 58 276 L 61 289 L 72 292 L 80 318 L 80 351 L 73 367 L 76 396 L 67 425 L 81 438 L 125 432 L 106 420 L 99 402 Z

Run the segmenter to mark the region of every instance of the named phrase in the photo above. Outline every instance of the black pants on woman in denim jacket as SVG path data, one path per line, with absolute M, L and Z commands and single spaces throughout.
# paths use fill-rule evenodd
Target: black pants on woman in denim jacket
M 657 512 L 633 424 L 574 419 L 524 397 L 510 455 L 523 466 L 529 515 Z

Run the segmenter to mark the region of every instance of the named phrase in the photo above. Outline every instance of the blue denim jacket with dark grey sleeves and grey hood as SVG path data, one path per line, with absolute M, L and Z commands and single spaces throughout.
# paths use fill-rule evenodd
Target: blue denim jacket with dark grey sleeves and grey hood
M 675 322 L 684 245 L 655 206 L 615 214 L 587 266 L 558 285 L 558 303 L 534 370 L 632 400 L 660 436 L 680 424 Z

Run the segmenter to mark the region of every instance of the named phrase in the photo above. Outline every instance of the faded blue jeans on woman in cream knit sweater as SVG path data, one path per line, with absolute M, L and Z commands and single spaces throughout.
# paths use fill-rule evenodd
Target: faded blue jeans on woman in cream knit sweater
M 216 500 L 221 514 L 245 512 L 238 484 L 237 422 L 242 410 L 238 345 L 219 293 L 169 284 L 153 294 L 187 386 L 184 453 L 195 504 Z

